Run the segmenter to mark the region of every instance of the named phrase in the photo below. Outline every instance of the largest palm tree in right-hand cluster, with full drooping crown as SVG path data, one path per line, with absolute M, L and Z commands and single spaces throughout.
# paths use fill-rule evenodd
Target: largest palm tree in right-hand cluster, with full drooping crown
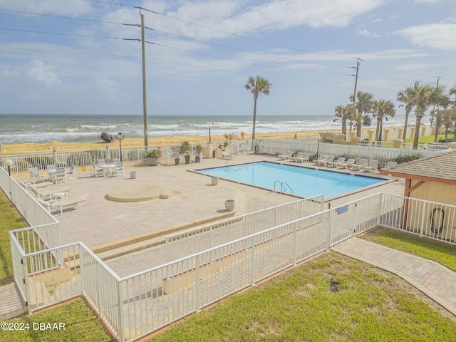
M 443 103 L 443 90 L 442 86 L 432 87 L 429 83 L 421 84 L 419 81 L 413 83 L 413 92 L 415 93 L 415 99 L 413 104 L 415 105 L 415 137 L 413 138 L 413 149 L 418 148 L 418 139 L 420 138 L 420 125 L 421 119 L 425 115 L 427 108 L 433 103 Z

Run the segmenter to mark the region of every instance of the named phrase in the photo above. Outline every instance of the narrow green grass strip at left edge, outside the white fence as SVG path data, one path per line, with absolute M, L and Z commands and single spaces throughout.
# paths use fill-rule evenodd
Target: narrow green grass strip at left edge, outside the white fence
M 9 231 L 24 227 L 24 218 L 0 189 L 0 286 L 14 280 Z

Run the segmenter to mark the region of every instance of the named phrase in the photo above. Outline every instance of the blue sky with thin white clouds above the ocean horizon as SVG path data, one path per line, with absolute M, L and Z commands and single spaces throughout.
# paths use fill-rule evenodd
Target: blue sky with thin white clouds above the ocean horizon
M 0 113 L 333 115 L 455 86 L 455 0 L 0 0 Z

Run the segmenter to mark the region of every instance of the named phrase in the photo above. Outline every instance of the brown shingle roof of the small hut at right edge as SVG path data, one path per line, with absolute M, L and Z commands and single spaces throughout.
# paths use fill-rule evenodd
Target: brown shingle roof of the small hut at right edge
M 404 162 L 394 167 L 386 167 L 380 170 L 380 174 L 412 179 L 427 178 L 437 182 L 438 180 L 456 182 L 456 151 L 447 150 L 431 157 Z

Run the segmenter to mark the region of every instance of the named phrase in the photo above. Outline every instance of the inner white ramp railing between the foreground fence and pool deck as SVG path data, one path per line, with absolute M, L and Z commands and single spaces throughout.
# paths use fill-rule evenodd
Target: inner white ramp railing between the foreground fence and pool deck
M 166 260 L 185 257 L 323 210 L 324 195 L 280 204 L 165 237 Z

